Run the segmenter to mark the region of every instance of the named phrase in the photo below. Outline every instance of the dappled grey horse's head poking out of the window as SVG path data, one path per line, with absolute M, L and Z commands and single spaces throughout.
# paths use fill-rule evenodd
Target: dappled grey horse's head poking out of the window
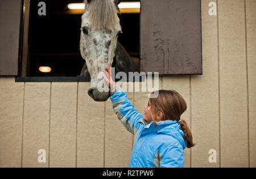
M 117 38 L 121 25 L 117 16 L 118 0 L 85 0 L 85 12 L 82 15 L 80 51 L 85 59 L 89 74 L 88 95 L 94 101 L 106 101 L 109 92 L 102 89 L 103 70 L 111 67 L 117 47 Z

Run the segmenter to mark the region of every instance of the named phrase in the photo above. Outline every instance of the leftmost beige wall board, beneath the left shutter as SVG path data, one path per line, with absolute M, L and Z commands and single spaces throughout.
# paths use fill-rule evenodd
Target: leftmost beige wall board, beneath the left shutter
M 22 167 L 24 83 L 0 77 L 0 168 Z

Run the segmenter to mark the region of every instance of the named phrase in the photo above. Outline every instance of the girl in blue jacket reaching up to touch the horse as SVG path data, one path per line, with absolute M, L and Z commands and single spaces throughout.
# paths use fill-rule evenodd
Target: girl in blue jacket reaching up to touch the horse
M 134 134 L 129 167 L 182 168 L 183 150 L 195 146 L 187 123 L 180 119 L 187 109 L 183 97 L 174 90 L 159 90 L 158 97 L 149 98 L 142 116 L 127 99 L 126 93 L 115 86 L 109 67 L 106 70 L 108 78 L 104 78 L 110 87 L 114 112 L 126 129 Z

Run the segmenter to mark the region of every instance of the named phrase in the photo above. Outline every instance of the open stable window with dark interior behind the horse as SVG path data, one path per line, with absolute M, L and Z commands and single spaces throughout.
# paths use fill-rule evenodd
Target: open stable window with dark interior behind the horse
M 81 16 L 84 10 L 82 6 L 70 6 L 71 3 L 81 5 L 83 2 L 84 0 L 23 1 L 22 65 L 16 81 L 90 82 L 88 76 L 81 76 L 85 65 L 80 53 Z M 46 7 L 45 12 L 43 7 Z M 138 73 L 139 12 L 139 8 L 120 8 L 118 14 L 122 27 L 118 44 L 129 54 Z

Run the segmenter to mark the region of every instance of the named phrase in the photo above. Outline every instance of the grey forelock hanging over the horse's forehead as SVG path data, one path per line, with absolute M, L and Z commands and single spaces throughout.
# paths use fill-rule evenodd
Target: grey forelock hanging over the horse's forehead
M 93 0 L 88 8 L 88 18 L 97 29 L 111 29 L 118 23 L 117 7 L 111 0 Z

